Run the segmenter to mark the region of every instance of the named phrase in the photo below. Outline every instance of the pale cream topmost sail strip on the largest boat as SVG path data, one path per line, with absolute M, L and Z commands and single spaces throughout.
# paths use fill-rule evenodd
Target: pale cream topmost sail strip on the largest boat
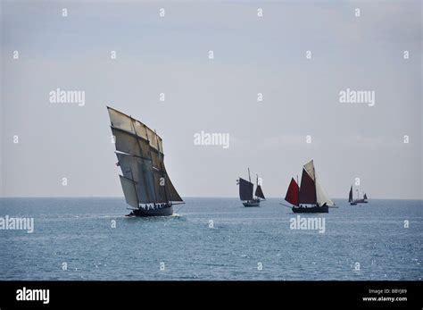
M 153 130 L 148 128 L 141 121 L 137 121 L 127 114 L 121 113 L 111 107 L 107 107 L 112 127 L 129 131 L 137 134 L 138 137 L 149 141 L 150 146 L 155 150 L 163 152 L 162 138 L 160 138 Z

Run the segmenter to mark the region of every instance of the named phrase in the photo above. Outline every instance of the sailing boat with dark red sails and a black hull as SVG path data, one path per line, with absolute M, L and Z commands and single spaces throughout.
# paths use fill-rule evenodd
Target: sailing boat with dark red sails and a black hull
M 291 179 L 286 191 L 285 200 L 293 205 L 292 210 L 295 214 L 327 214 L 329 212 L 329 206 L 334 205 L 319 183 L 313 160 L 303 165 L 301 187 L 298 186 L 294 178 Z

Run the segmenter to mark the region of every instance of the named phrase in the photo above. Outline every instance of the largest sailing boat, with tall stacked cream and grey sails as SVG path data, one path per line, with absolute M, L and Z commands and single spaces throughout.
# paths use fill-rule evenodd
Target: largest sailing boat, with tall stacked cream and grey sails
M 115 139 L 116 156 L 122 175 L 120 183 L 127 216 L 164 216 L 173 214 L 175 202 L 183 202 L 173 187 L 163 163 L 163 145 L 155 131 L 141 121 L 107 107 Z

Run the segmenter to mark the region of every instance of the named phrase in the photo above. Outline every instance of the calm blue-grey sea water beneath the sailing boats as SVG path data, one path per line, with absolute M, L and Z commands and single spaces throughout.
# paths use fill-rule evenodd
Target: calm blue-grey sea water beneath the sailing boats
M 0 280 L 422 279 L 419 200 L 335 200 L 324 233 L 291 230 L 281 199 L 186 201 L 144 219 L 124 217 L 123 198 L 1 198 L 0 217 L 34 217 L 35 231 L 0 230 Z

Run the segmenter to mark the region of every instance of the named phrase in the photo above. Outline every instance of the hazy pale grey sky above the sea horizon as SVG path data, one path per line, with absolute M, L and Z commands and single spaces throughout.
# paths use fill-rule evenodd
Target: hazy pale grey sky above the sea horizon
M 311 158 L 330 197 L 346 197 L 355 177 L 370 198 L 422 197 L 419 1 L 1 10 L 1 196 L 122 196 L 111 105 L 157 130 L 182 197 L 236 197 L 247 167 L 265 195 L 285 197 Z M 85 91 L 85 105 L 50 103 L 56 88 Z M 376 104 L 339 103 L 346 88 L 375 91 Z M 195 146 L 201 130 L 229 133 L 230 147 Z

